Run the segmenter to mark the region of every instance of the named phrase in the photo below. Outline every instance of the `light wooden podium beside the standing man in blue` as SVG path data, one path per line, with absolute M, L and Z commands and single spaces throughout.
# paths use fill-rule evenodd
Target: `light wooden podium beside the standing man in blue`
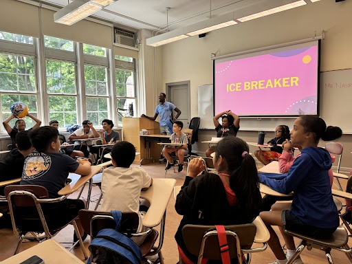
M 133 164 L 140 164 L 140 159 L 146 157 L 144 138 L 140 137 L 140 131 L 146 129 L 151 134 L 159 134 L 159 122 L 148 120 L 148 118 L 122 118 L 122 134 L 123 140 L 131 142 L 135 146 L 135 150 L 140 155 L 135 156 Z M 160 157 L 160 146 L 153 144 L 151 147 L 152 157 Z

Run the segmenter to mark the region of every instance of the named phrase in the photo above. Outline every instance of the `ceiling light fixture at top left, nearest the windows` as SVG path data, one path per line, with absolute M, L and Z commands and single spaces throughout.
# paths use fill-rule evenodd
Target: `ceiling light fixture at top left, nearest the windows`
M 54 21 L 72 25 L 118 0 L 75 0 L 54 13 Z

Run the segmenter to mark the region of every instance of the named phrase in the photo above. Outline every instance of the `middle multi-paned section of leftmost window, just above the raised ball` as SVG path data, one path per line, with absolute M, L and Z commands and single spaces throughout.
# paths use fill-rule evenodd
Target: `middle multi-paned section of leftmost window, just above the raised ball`
M 0 54 L 0 90 L 36 91 L 34 58 Z

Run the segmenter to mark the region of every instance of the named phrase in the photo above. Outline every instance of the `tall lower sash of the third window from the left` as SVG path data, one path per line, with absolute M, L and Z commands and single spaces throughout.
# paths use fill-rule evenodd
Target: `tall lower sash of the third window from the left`
M 93 124 L 101 124 L 109 118 L 106 67 L 85 65 L 85 94 L 87 119 Z

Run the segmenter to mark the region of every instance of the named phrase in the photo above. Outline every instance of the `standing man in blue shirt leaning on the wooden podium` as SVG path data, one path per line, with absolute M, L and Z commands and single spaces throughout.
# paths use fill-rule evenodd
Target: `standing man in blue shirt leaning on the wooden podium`
M 181 110 L 175 107 L 175 104 L 166 101 L 166 94 L 159 94 L 159 104 L 155 108 L 155 115 L 153 117 L 142 114 L 142 118 L 148 118 L 149 120 L 155 121 L 157 115 L 160 115 L 160 133 L 162 135 L 170 135 L 173 133 L 173 122 L 176 121 L 179 115 L 181 115 Z M 171 119 L 171 114 L 173 110 L 177 112 L 175 118 Z

